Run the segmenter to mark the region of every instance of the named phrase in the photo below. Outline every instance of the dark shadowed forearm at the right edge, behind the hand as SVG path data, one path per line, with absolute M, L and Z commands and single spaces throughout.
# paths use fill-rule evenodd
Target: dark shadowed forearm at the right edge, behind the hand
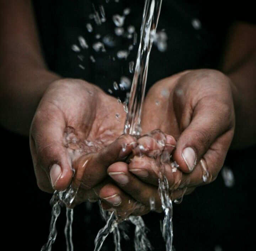
M 234 90 L 236 128 L 232 148 L 256 143 L 256 26 L 237 22 L 230 27 L 221 70 Z

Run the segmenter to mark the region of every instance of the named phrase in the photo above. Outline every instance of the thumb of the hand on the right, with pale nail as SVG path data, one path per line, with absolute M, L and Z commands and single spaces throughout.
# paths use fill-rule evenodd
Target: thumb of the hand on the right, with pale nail
M 194 111 L 188 111 L 191 114 L 183 114 L 184 121 L 181 119 L 181 125 L 185 130 L 181 133 L 172 156 L 180 166 L 180 170 L 185 173 L 194 169 L 216 138 L 234 126 L 231 123 L 229 106 L 214 101 L 211 102 L 208 98 L 207 102 L 204 102 L 202 99 Z M 192 113 L 192 121 L 186 125 L 185 120 L 188 116 L 192 116 Z M 230 139 L 225 141 L 227 149 L 230 142 Z

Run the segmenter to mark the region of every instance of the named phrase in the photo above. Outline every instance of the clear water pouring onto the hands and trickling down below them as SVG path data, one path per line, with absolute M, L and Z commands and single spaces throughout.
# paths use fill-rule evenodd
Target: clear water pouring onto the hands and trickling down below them
M 134 77 L 132 81 L 132 87 L 129 98 L 128 113 L 126 122 L 124 125 L 124 133 L 139 136 L 141 133 L 141 115 L 142 105 L 145 95 L 145 87 L 148 73 L 149 56 L 154 37 L 156 33 L 156 27 L 159 20 L 162 0 L 145 0 L 142 26 L 140 30 L 140 43 L 135 62 Z M 162 143 L 162 142 L 161 142 Z M 166 251 L 172 250 L 172 201 L 169 197 L 168 182 L 164 176 L 164 161 L 161 156 L 156 158 L 159 165 L 160 179 L 159 179 L 159 195 L 161 197 L 162 208 L 165 213 L 165 218 L 162 224 L 162 235 L 166 242 Z M 56 220 L 60 214 L 61 204 L 70 206 L 77 191 L 74 191 L 72 186 L 63 192 L 54 192 L 51 200 L 52 206 L 52 220 L 50 223 L 50 234 L 48 236 L 47 243 L 42 247 L 41 251 L 51 251 L 52 244 L 54 243 L 57 230 Z M 121 251 L 120 244 L 120 231 L 118 224 L 123 221 L 119 219 L 115 212 L 108 213 L 101 209 L 101 215 L 106 220 L 106 225 L 102 228 L 95 239 L 94 251 L 99 251 L 102 247 L 104 240 L 108 234 L 113 232 L 115 251 Z M 128 217 L 128 215 L 127 215 Z M 66 226 L 65 237 L 67 251 L 73 251 L 72 243 L 72 221 L 73 221 L 73 209 L 66 209 Z M 134 246 L 136 251 L 146 251 L 151 249 L 149 240 L 146 238 L 146 227 L 142 217 L 130 216 L 129 221 L 135 225 L 135 239 Z

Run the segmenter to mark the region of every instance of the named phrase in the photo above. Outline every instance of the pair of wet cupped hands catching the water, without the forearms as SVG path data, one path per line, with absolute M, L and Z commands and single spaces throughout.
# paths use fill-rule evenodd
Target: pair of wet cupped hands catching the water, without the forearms
M 81 80 L 55 81 L 31 126 L 38 185 L 52 192 L 73 182 L 79 187 L 73 206 L 101 198 L 105 209 L 140 215 L 149 212 L 154 197 L 160 211 L 154 153 L 165 151 L 179 165 L 173 172 L 171 162 L 165 163 L 172 199 L 205 184 L 204 169 L 209 172 L 206 183 L 213 181 L 234 133 L 233 89 L 229 78 L 215 70 L 186 71 L 157 82 L 145 99 L 142 134 L 160 129 L 166 138 L 161 146 L 160 131 L 139 139 L 122 135 L 122 104 L 99 88 Z M 86 147 L 85 140 L 98 148 Z

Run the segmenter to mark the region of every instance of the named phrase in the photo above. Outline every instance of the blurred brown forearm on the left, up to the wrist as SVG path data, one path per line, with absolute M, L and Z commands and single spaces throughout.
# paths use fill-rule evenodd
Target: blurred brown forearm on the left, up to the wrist
M 48 85 L 59 77 L 46 69 L 27 0 L 0 0 L 0 124 L 28 135 Z

